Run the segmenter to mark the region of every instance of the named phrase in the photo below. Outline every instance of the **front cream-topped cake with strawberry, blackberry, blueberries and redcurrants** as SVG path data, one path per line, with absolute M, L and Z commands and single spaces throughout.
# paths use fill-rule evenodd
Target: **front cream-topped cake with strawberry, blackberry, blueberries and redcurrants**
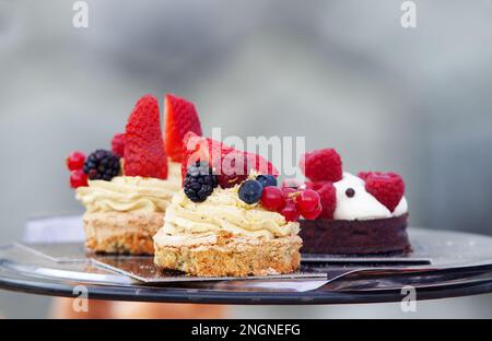
M 155 264 L 200 277 L 296 270 L 300 215 L 277 186 L 277 169 L 259 155 L 194 133 L 184 150 L 183 189 L 154 236 Z

